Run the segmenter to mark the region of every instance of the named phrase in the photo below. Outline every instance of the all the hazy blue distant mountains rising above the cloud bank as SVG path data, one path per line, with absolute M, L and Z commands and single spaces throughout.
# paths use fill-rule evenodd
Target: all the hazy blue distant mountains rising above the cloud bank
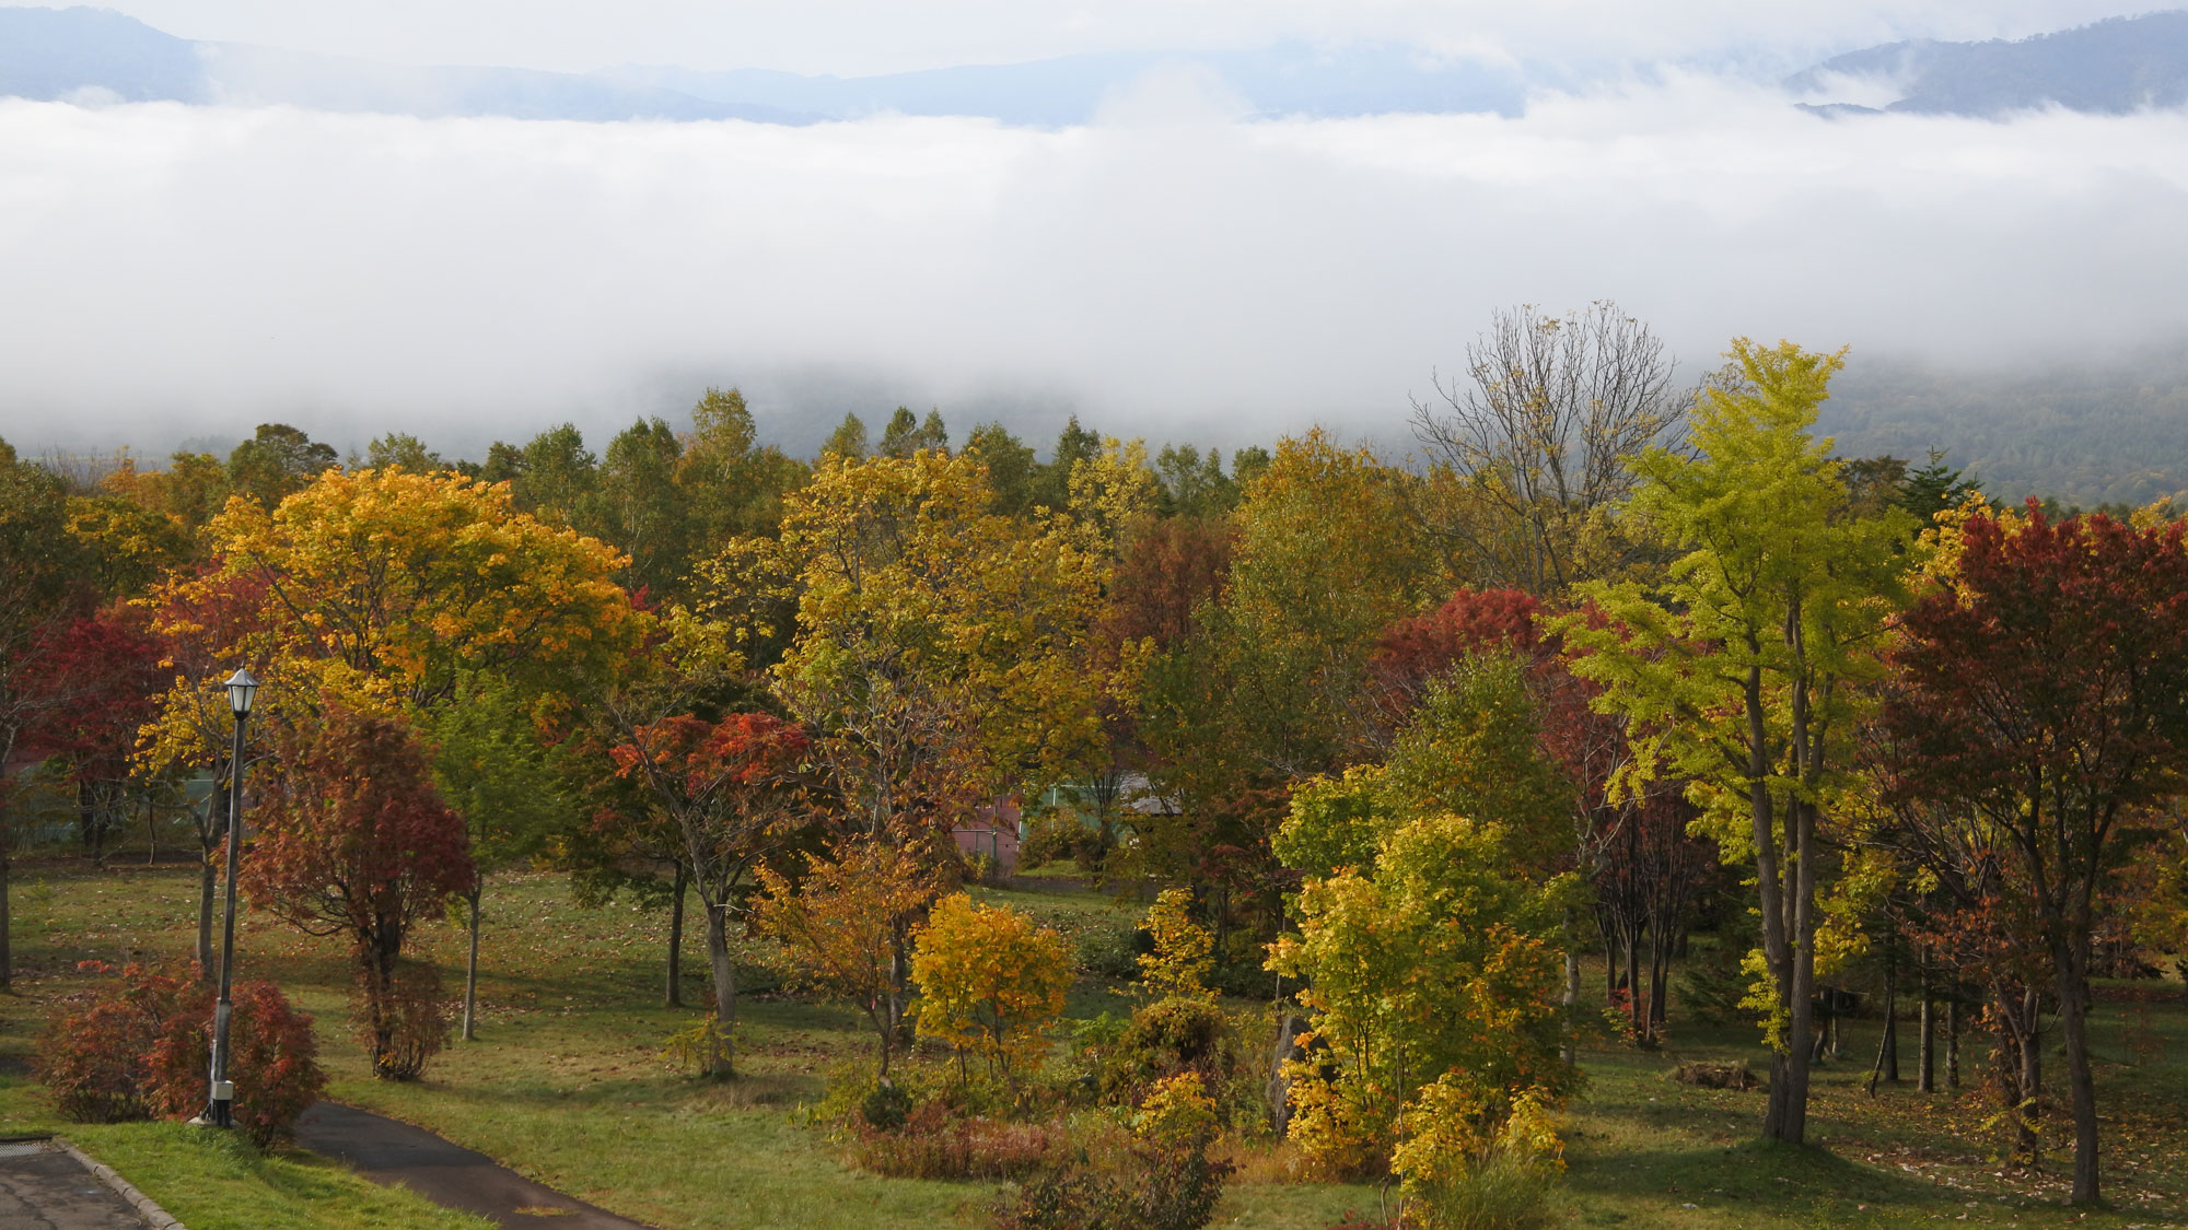
M 193 42 L 107 9 L 0 7 L 0 96 L 66 103 L 293 105 L 420 118 L 856 120 L 871 114 L 987 116 L 1061 127 L 1094 120 L 1151 72 L 1199 79 L 1254 116 L 1525 112 L 1527 94 L 1650 66 L 1435 59 L 1407 46 L 1223 53 L 1090 53 L 880 77 L 757 68 L 606 72 L 398 66 L 249 44 Z M 1691 66 L 1689 66 L 1691 68 Z M 1831 57 L 1788 77 L 1825 114 L 2004 116 L 2030 107 L 2125 114 L 2188 103 L 2188 11 L 2116 18 L 2017 42 L 1912 39 Z M 1840 90 L 1851 85 L 1849 90 Z M 1834 92 L 1840 96 L 1834 98 Z M 1855 96 L 1858 94 L 1858 96 Z M 1877 96 L 1895 101 L 1877 105 Z

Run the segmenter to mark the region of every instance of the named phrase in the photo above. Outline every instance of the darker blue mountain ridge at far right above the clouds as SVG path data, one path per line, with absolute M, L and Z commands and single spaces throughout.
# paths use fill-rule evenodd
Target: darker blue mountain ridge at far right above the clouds
M 1910 39 L 1831 57 L 1785 79 L 1794 94 L 1829 94 L 1838 79 L 1890 81 L 1884 107 L 1812 109 L 1998 118 L 2033 107 L 2127 114 L 2188 103 L 2188 11 L 2114 18 L 2026 39 Z

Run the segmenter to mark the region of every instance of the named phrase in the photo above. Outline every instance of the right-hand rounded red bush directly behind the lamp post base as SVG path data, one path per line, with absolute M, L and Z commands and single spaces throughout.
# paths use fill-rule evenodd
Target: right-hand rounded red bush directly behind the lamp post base
M 298 1116 L 326 1092 L 311 1016 L 289 1005 L 274 983 L 241 983 L 230 991 L 228 1077 L 236 1086 L 234 1121 L 260 1149 L 289 1140 Z M 155 1114 L 188 1118 L 206 1105 L 212 1068 L 212 987 L 184 996 L 147 1059 Z

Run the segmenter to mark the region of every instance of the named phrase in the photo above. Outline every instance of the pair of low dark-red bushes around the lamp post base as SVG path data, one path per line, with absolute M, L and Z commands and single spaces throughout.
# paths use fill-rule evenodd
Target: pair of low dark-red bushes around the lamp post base
M 326 1090 L 326 1072 L 311 1016 L 278 987 L 241 983 L 232 1005 L 228 1077 L 236 1086 L 236 1127 L 263 1147 L 289 1138 Z M 208 1099 L 212 1011 L 214 989 L 195 970 L 129 965 L 114 991 L 55 1018 L 35 1075 L 74 1123 L 188 1118 Z

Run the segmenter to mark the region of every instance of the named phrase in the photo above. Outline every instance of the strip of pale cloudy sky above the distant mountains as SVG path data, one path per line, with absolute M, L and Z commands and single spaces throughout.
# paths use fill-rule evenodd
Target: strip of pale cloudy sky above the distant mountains
M 109 0 L 171 35 L 407 63 L 617 63 L 866 74 L 1081 50 L 1398 42 L 1521 59 L 1774 48 L 1801 63 L 1899 37 L 2022 37 L 2118 0 Z M 1799 63 L 1792 63 L 1799 68 Z

